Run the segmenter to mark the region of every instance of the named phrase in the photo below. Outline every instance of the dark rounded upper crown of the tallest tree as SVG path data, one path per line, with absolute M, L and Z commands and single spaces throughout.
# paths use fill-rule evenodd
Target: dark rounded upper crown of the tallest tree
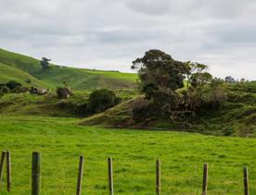
M 138 69 L 141 85 L 150 81 L 158 88 L 177 90 L 184 86 L 184 74 L 189 72 L 185 63 L 176 61 L 160 50 L 149 50 L 133 62 Z

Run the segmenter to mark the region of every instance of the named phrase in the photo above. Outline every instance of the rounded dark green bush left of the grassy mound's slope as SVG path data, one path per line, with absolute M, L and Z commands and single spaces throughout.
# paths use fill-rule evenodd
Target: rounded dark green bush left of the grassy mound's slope
M 91 114 L 100 113 L 119 103 L 121 98 L 116 97 L 113 91 L 96 90 L 90 94 L 86 110 Z

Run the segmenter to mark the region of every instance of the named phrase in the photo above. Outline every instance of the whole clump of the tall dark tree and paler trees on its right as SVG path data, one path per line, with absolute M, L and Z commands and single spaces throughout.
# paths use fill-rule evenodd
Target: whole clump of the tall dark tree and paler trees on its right
M 132 66 L 138 71 L 140 91 L 151 102 L 147 111 L 154 109 L 156 115 L 171 117 L 180 113 L 195 116 L 203 106 L 217 105 L 224 100 L 223 91 L 217 87 L 220 85 L 212 82 L 207 68 L 199 63 L 174 60 L 160 50 L 147 51 Z

